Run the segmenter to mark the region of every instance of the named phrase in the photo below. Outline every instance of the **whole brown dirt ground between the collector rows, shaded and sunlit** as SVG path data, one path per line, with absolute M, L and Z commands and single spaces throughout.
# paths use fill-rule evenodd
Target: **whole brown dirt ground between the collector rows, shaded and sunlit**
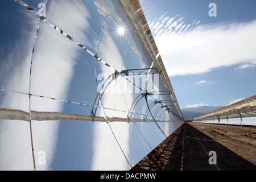
M 131 170 L 256 171 L 255 133 L 250 126 L 184 123 Z M 209 164 L 210 151 L 217 164 Z

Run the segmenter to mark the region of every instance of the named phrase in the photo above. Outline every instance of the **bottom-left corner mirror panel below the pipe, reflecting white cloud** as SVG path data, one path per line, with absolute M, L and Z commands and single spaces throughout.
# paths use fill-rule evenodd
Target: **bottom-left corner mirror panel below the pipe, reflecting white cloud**
M 28 122 L 1 120 L 0 170 L 32 170 Z

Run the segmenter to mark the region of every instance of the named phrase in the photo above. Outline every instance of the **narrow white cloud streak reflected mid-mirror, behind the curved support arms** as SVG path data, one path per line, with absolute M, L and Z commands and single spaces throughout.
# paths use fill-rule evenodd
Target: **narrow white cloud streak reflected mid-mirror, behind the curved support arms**
M 104 35 L 102 36 L 98 53 L 103 60 L 107 60 L 108 63 L 112 65 L 114 68 L 120 67 L 120 65 L 122 64 L 122 55 L 119 52 L 118 47 L 115 44 L 114 40 L 112 39 L 112 36 L 110 35 L 110 32 L 108 30 L 108 27 L 105 27 Z M 103 73 L 109 73 L 108 75 L 112 73 L 112 71 L 110 71 L 110 69 L 105 65 L 100 64 L 100 69 Z M 124 81 L 123 79 L 124 78 L 121 76 L 117 77 L 112 82 L 112 84 L 109 85 L 109 90 L 115 90 L 116 92 L 116 88 L 121 89 L 122 81 Z M 122 90 L 120 91 L 121 92 L 118 92 L 118 93 L 115 93 L 115 92 L 104 93 L 102 97 L 102 105 L 104 107 L 110 107 L 112 109 L 127 110 L 125 100 L 123 98 Z M 132 96 L 126 98 L 126 100 L 129 100 L 129 102 L 131 102 L 132 99 L 133 99 Z M 125 118 L 127 117 L 127 113 L 120 113 L 113 110 L 104 110 L 104 111 L 100 110 L 97 113 L 97 115 L 105 115 L 105 114 L 108 117 L 125 117 Z M 112 134 L 109 135 L 108 133 L 111 131 L 110 130 L 106 131 L 106 126 L 102 126 L 101 124 L 98 124 L 98 123 L 97 124 L 94 123 L 94 126 L 97 126 L 97 127 L 95 127 L 96 131 L 94 132 L 94 138 L 95 138 L 94 148 L 96 149 L 96 151 L 94 152 L 94 156 L 93 156 L 93 165 L 92 165 L 93 169 L 98 169 L 98 168 L 104 169 L 104 166 L 102 166 L 103 164 L 102 161 L 106 161 L 106 160 L 108 160 L 108 163 L 112 163 L 111 167 L 108 166 L 110 168 L 116 168 L 116 169 L 127 168 L 126 159 L 124 158 L 121 150 L 119 148 L 116 148 L 117 142 L 113 141 L 113 143 L 108 143 L 108 147 L 106 147 L 106 143 L 105 143 L 106 137 L 109 137 L 109 139 L 113 138 Z M 129 146 L 128 146 L 129 125 L 116 126 L 115 130 L 122 131 L 122 137 L 126 141 L 126 143 L 121 144 L 122 149 L 125 151 L 129 151 Z M 109 148 L 115 148 L 115 151 L 119 151 L 119 155 L 117 155 L 117 158 L 113 156 L 116 160 L 113 160 L 113 158 L 106 156 L 106 154 L 113 155 L 113 150 L 110 150 Z M 105 151 L 105 152 L 102 152 L 102 151 Z M 118 159 L 118 158 L 121 158 L 121 159 Z

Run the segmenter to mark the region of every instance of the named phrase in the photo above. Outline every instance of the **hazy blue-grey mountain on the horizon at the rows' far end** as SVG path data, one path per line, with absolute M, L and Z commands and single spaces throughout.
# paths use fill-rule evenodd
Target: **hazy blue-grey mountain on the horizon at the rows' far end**
M 193 119 L 199 117 L 200 115 L 210 113 L 216 109 L 220 109 L 221 106 L 200 106 L 200 107 L 190 107 L 181 109 L 183 117 L 185 120 Z

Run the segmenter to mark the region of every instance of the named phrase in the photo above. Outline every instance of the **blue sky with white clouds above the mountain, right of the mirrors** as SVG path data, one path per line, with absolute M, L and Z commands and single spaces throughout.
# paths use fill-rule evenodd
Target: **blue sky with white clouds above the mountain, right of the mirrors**
M 256 1 L 140 2 L 181 108 L 256 94 Z

